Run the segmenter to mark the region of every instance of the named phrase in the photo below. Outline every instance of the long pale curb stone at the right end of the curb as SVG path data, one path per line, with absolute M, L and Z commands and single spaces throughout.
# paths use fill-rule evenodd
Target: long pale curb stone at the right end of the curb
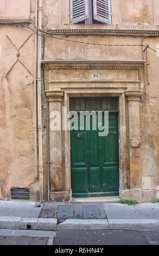
M 152 219 L 109 219 L 109 229 L 152 231 L 158 229 L 157 220 Z

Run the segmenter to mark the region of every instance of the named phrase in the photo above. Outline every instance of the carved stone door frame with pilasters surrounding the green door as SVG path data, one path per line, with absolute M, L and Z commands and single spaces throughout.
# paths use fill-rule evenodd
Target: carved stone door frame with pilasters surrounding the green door
M 96 64 L 96 66 L 94 66 Z M 140 100 L 143 91 L 139 84 L 143 82 L 144 61 L 129 62 L 63 62 L 43 61 L 46 68 L 46 95 L 49 101 L 49 113 L 53 109 L 67 108 L 69 112 L 69 97 L 118 97 L 119 102 L 119 196 L 131 197 L 131 191 L 137 191 L 137 199 L 141 197 L 141 134 L 140 134 Z M 136 81 L 113 79 L 98 81 L 72 80 L 72 73 L 75 71 L 86 72 L 97 69 L 113 70 L 111 76 L 116 78 L 117 71 L 136 72 Z M 56 78 L 59 70 L 65 70 L 65 80 Z M 103 71 L 103 72 L 104 72 Z M 63 72 L 64 73 L 64 72 Z M 59 73 L 60 74 L 60 73 Z M 81 74 L 81 73 L 78 73 Z M 108 71 L 109 74 L 109 71 Z M 124 74 L 124 73 L 123 73 Z M 57 75 L 58 76 L 58 75 Z M 62 113 L 62 112 L 61 112 Z M 50 119 L 51 122 L 51 119 Z M 51 200 L 71 200 L 71 152 L 70 152 L 70 131 L 50 131 L 50 136 L 58 136 L 60 142 L 59 163 L 52 164 L 52 152 L 54 142 L 50 138 L 50 168 L 54 166 L 54 176 L 59 176 L 61 187 L 53 188 L 50 192 Z M 57 137 L 56 136 L 56 137 Z M 60 164 L 61 163 L 61 164 Z M 57 169 L 59 170 L 57 174 Z M 50 171 L 51 173 L 51 171 Z M 51 175 L 50 175 L 50 179 Z M 60 188 L 60 189 L 59 189 Z

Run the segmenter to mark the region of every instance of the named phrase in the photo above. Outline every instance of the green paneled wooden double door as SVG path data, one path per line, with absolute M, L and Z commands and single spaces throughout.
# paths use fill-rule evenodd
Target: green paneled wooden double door
M 98 129 L 92 129 L 92 119 L 90 124 L 90 130 L 86 130 L 86 127 L 80 130 L 79 125 L 79 130 L 71 131 L 72 196 L 117 196 L 119 194 L 118 111 L 109 111 L 107 136 L 101 137 Z

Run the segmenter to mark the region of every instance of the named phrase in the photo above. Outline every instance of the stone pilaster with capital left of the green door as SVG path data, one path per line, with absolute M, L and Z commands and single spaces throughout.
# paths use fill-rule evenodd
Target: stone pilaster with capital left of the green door
M 63 92 L 46 91 L 49 102 L 50 191 L 62 191 L 61 101 Z M 56 122 L 55 122 L 56 119 Z M 53 123 L 58 129 L 54 129 Z

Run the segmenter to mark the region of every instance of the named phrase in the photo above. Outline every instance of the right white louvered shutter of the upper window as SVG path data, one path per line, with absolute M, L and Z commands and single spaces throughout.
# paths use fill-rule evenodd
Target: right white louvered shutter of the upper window
M 111 0 L 93 0 L 94 20 L 111 24 Z

